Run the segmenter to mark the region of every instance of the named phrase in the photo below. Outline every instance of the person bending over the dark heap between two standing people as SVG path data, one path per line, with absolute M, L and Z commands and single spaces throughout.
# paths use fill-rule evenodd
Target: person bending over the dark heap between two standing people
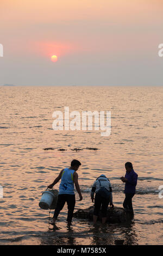
M 92 203 L 95 196 L 95 206 L 93 211 L 93 223 L 96 224 L 97 218 L 99 215 L 99 211 L 102 206 L 102 223 L 104 224 L 107 219 L 107 210 L 108 205 L 110 202 L 110 206 L 113 208 L 114 205 L 112 204 L 112 189 L 111 184 L 108 178 L 104 174 L 100 175 L 96 181 L 94 182 L 91 190 L 91 199 Z

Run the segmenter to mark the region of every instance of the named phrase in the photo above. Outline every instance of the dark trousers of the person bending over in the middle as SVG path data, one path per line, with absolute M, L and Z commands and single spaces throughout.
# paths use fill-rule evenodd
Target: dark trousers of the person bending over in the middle
M 93 215 L 98 216 L 99 211 L 101 209 L 102 217 L 107 216 L 107 210 L 108 210 L 108 205 L 109 205 L 109 198 L 102 198 L 101 196 L 98 195 L 98 193 L 95 196 L 95 207 L 93 211 Z

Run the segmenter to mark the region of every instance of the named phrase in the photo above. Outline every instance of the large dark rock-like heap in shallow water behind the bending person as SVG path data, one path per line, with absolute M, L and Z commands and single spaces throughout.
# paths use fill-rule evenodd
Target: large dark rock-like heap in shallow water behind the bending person
M 89 208 L 83 209 L 83 210 L 79 209 L 78 211 L 74 212 L 73 216 L 76 218 L 92 220 L 93 209 L 94 209 L 94 206 L 90 206 Z M 122 223 L 126 221 L 131 221 L 131 219 L 132 219 L 132 216 L 130 211 L 124 210 L 123 208 L 120 208 L 120 207 L 114 207 L 114 208 L 108 207 L 106 222 Z M 101 220 L 101 212 L 99 214 L 98 220 Z

